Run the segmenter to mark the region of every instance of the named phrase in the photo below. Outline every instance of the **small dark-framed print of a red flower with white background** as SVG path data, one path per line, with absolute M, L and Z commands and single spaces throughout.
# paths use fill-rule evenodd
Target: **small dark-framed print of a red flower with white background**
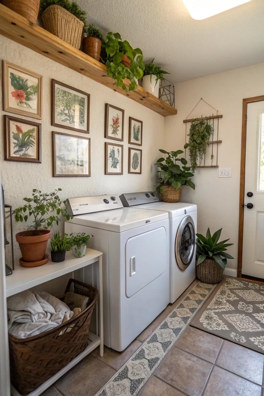
M 124 113 L 119 107 L 105 104 L 104 114 L 104 137 L 123 141 L 124 136 Z

